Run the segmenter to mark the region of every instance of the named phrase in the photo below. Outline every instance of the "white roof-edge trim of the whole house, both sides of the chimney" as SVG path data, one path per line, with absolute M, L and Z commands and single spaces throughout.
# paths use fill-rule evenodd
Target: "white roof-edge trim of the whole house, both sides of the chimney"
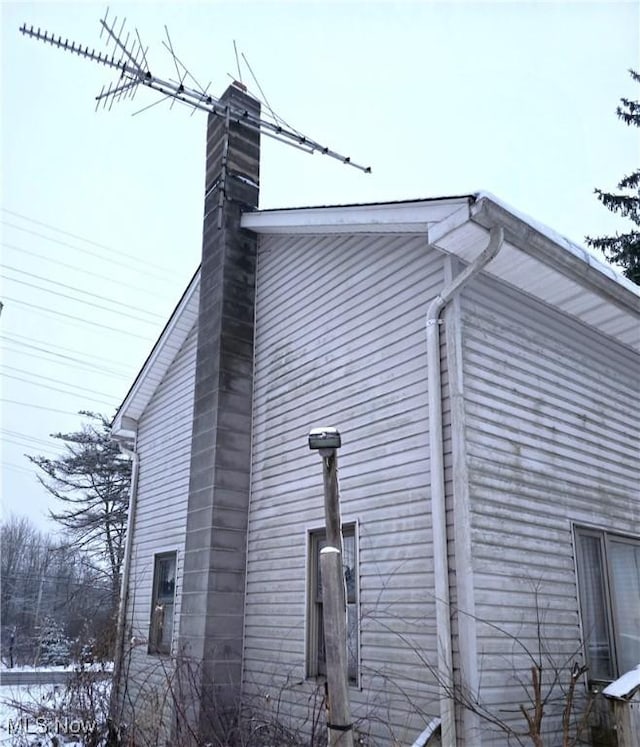
M 434 204 L 447 206 L 438 211 Z M 444 217 L 437 218 L 440 213 Z M 558 273 L 582 284 L 587 290 L 625 310 L 640 315 L 640 287 L 623 277 L 584 247 L 515 210 L 488 192 L 419 200 L 381 203 L 353 203 L 322 207 L 257 210 L 242 215 L 243 228 L 258 234 L 320 233 L 424 233 L 432 246 L 446 251 L 440 242 L 451 232 L 475 223 L 484 229 L 500 225 L 505 240 Z M 156 366 L 167 341 L 176 334 L 184 313 L 199 289 L 200 268 L 191 278 L 140 373 L 133 382 L 112 421 L 115 437 L 135 435 L 137 422 L 127 414 L 139 397 L 146 396 L 144 385 Z

